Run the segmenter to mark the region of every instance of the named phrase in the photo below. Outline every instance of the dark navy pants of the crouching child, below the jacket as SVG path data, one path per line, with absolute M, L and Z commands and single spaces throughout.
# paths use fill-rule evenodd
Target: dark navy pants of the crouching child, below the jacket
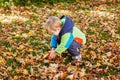
M 70 47 L 68 48 L 68 52 L 72 56 L 78 56 L 80 54 L 79 48 L 81 47 L 81 44 L 79 44 L 76 41 L 73 41 Z

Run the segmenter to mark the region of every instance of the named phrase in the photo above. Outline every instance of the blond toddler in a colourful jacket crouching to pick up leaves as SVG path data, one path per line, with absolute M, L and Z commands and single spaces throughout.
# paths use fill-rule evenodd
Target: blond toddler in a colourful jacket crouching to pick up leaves
M 61 18 L 50 16 L 44 27 L 53 34 L 49 59 L 54 59 L 57 54 L 68 50 L 73 59 L 81 60 L 79 48 L 86 43 L 86 37 L 81 30 L 75 27 L 69 17 L 64 15 Z

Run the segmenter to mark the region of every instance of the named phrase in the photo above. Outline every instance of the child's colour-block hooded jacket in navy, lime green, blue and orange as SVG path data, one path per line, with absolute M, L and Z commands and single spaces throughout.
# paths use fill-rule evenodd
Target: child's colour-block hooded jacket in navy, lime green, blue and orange
M 62 53 L 68 49 L 73 40 L 77 41 L 79 44 L 86 43 L 85 34 L 77 27 L 74 27 L 74 23 L 69 17 L 62 16 L 60 19 L 63 26 L 59 36 L 52 35 L 50 42 L 50 46 L 55 48 L 57 53 Z

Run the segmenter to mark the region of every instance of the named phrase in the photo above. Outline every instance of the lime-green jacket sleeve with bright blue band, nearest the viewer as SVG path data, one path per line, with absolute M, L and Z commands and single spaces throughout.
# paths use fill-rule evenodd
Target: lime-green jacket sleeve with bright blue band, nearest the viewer
M 72 35 L 72 33 L 66 33 L 61 37 L 61 43 L 59 46 L 57 46 L 57 48 L 55 49 L 55 51 L 59 54 L 61 54 L 63 51 L 65 51 L 66 49 L 68 49 L 72 43 L 72 41 L 74 40 L 74 37 Z

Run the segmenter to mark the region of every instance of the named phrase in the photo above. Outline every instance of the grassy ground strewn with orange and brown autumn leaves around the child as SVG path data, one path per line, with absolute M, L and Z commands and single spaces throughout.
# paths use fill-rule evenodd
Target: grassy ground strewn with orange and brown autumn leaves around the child
M 1 80 L 120 79 L 120 3 L 43 5 L 0 9 Z M 46 59 L 50 34 L 43 24 L 53 15 L 71 17 L 86 34 L 81 62 L 72 63 L 66 53 Z

